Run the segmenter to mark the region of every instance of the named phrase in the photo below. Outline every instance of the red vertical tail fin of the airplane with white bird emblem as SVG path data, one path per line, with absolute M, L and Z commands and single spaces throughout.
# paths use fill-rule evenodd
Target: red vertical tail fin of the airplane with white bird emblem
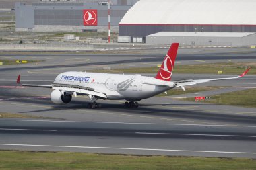
M 176 59 L 177 51 L 178 51 L 179 43 L 173 43 L 166 54 L 164 61 L 160 69 L 158 70 L 158 74 L 156 75 L 156 79 L 170 81 L 172 78 L 172 71 L 174 69 L 174 62 Z

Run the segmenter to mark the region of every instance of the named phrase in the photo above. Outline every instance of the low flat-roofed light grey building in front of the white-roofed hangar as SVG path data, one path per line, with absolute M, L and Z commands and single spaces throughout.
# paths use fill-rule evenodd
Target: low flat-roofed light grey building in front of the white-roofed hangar
M 146 36 L 146 44 L 172 44 L 181 46 L 251 46 L 256 44 L 253 32 L 158 32 Z

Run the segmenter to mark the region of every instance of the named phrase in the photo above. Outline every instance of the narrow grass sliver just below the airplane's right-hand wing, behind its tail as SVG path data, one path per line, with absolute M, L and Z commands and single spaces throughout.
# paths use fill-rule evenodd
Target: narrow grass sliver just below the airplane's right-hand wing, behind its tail
M 167 91 L 167 95 L 165 93 L 161 93 L 158 97 L 170 96 L 170 95 L 184 95 L 187 93 L 197 93 L 199 91 L 210 91 L 216 89 L 222 89 L 226 87 L 222 86 L 207 86 L 207 87 L 185 87 L 186 91 L 183 91 L 180 88 L 170 89 Z

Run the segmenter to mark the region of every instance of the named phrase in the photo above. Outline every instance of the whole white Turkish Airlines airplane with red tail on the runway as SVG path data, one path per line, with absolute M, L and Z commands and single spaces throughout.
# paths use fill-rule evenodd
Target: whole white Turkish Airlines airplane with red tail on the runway
M 243 74 L 236 77 L 171 81 L 178 47 L 179 43 L 173 43 L 170 46 L 156 77 L 146 77 L 139 74 L 123 75 L 69 71 L 57 75 L 52 85 L 22 84 L 22 86 L 53 89 L 51 101 L 55 104 L 69 103 L 72 96 L 87 95 L 90 98 L 88 108 L 100 108 L 101 105 L 96 102 L 98 99 L 126 100 L 125 107 L 138 107 L 138 101 L 141 101 L 141 99 L 153 97 L 175 87 L 180 87 L 185 91 L 185 86 L 188 85 L 238 79 L 244 77 L 250 69 L 249 67 Z M 17 83 L 20 84 L 20 75 L 18 75 Z

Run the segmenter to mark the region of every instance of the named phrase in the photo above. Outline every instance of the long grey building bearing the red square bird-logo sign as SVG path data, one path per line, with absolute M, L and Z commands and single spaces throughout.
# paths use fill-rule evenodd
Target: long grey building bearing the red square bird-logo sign
M 112 31 L 125 13 L 138 0 L 113 0 L 110 5 Z M 82 32 L 108 30 L 108 0 L 40 0 L 27 5 L 15 4 L 17 31 L 34 32 Z

